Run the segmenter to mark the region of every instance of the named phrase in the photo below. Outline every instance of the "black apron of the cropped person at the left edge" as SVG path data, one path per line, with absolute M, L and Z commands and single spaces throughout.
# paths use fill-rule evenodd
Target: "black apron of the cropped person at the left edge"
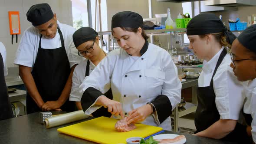
M 0 53 L 0 120 L 8 118 L 13 118 L 13 112 L 4 79 L 3 57 Z

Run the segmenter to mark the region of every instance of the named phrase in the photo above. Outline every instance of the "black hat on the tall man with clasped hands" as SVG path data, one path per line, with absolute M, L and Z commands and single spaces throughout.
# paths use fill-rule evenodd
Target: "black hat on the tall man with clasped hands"
M 27 20 L 33 26 L 39 26 L 53 18 L 53 11 L 48 3 L 35 4 L 26 13 Z

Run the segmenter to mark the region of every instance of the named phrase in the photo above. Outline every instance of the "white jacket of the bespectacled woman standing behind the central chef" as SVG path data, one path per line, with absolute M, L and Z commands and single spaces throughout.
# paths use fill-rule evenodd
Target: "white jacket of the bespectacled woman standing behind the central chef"
M 82 93 L 79 92 L 79 86 L 85 79 L 85 71 L 87 61 L 89 59 L 83 59 L 78 65 L 76 65 L 75 70 L 72 76 L 72 88 L 69 95 L 69 101 L 81 101 Z M 90 61 L 90 60 L 89 60 Z M 93 69 L 95 69 L 95 65 L 90 61 L 89 65 L 89 75 Z

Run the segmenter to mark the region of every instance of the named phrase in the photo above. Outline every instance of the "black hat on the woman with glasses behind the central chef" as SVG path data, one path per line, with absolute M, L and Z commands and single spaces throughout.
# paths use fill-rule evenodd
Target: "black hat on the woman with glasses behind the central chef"
M 73 34 L 73 42 L 75 47 L 78 47 L 82 43 L 95 39 L 96 36 L 98 36 L 98 33 L 91 27 L 81 27 Z

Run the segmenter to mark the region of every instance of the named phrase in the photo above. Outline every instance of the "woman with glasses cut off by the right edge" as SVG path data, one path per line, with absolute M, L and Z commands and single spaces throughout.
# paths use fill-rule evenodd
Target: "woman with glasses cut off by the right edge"
M 230 66 L 237 79 L 241 82 L 249 81 L 244 87 L 246 97 L 243 115 L 246 120 L 247 134 L 256 143 L 256 25 L 249 26 L 241 33 L 231 47 Z M 252 142 L 251 142 L 252 143 Z M 249 143 L 248 143 L 249 144 Z

